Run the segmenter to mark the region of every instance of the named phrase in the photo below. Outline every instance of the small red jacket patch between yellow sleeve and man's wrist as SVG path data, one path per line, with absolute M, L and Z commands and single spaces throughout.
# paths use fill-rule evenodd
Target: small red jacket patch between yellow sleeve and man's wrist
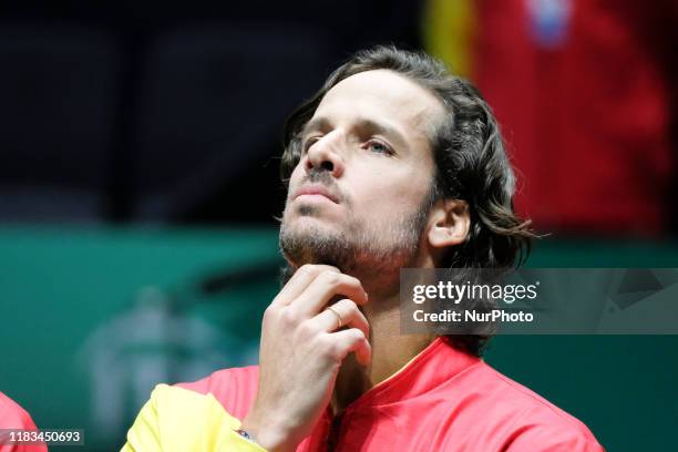
M 233 415 L 243 419 L 257 394 L 258 366 L 223 369 L 193 382 L 176 387 L 201 394 L 212 394 Z

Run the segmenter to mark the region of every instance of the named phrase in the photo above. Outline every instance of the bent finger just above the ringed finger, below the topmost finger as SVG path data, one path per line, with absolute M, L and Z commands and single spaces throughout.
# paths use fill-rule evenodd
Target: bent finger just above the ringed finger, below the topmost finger
M 295 317 L 310 318 L 320 312 L 337 295 L 350 298 L 358 305 L 364 305 L 368 301 L 362 284 L 357 278 L 340 273 L 323 271 L 287 309 L 290 309 L 290 314 Z

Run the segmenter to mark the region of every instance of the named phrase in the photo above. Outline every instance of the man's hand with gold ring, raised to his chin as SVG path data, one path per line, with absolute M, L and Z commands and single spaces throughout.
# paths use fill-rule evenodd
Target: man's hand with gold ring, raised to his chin
M 345 296 L 331 305 L 336 296 Z M 300 267 L 264 312 L 259 388 L 243 421 L 263 448 L 294 451 L 329 403 L 343 359 L 371 360 L 369 325 L 358 305 L 368 301 L 360 281 L 326 265 Z

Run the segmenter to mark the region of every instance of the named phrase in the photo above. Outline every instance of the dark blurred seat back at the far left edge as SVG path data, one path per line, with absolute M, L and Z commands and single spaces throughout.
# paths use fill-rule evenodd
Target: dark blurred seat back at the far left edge
M 0 27 L 0 220 L 105 218 L 119 44 L 82 27 Z

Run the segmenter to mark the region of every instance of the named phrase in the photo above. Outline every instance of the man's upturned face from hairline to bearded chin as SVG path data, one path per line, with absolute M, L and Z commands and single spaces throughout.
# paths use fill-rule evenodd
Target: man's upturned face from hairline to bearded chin
M 425 226 L 429 137 L 443 114 L 432 93 L 392 71 L 335 85 L 302 132 L 280 229 L 287 259 L 347 273 L 405 265 Z

